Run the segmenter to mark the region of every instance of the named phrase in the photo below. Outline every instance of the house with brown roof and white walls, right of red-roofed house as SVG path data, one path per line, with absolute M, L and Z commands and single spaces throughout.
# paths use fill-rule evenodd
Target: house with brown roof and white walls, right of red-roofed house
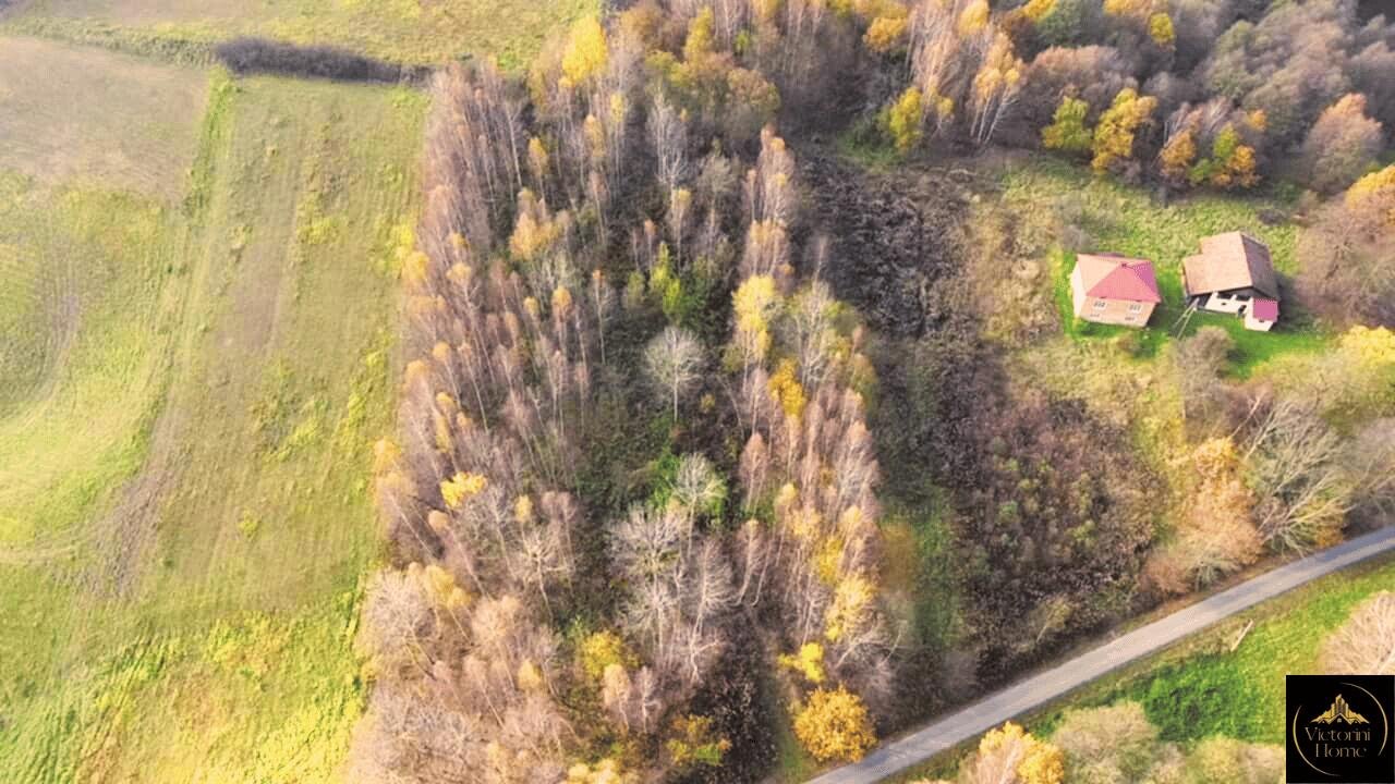
M 1182 259 L 1182 287 L 1201 310 L 1243 315 L 1246 329 L 1267 332 L 1279 319 L 1269 248 L 1240 232 L 1201 240 L 1201 252 Z

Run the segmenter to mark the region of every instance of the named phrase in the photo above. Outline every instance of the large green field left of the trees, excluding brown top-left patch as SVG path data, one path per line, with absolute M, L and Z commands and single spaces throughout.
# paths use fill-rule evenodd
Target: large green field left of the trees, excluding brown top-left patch
M 335 778 L 424 107 L 215 74 L 181 204 L 0 177 L 0 780 Z

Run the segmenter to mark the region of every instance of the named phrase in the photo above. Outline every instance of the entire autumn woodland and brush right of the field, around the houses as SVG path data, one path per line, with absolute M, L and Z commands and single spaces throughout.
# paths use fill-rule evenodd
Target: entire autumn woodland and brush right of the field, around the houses
M 1392 47 L 1332 0 L 646 0 L 522 78 L 438 73 L 356 774 L 756 781 L 783 723 L 857 759 L 1085 632 L 1387 520 Z M 829 135 L 953 166 L 1045 148 L 1162 199 L 1297 183 L 1292 285 L 1334 350 L 1275 382 L 1228 375 L 1223 331 L 1170 343 L 1149 372 L 1183 432 L 1140 449 L 1023 377 L 1055 324 L 992 289 L 1070 215 L 949 176 L 904 195 Z M 942 564 L 903 520 L 932 508 Z M 1108 710 L 1053 757 L 1009 727 L 963 770 L 1191 764 Z M 1120 731 L 1129 760 L 1096 760 Z

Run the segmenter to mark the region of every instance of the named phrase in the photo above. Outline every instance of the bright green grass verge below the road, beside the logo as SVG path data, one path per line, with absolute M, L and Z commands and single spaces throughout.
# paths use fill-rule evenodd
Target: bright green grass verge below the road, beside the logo
M 1225 735 L 1282 744 L 1283 677 L 1317 672 L 1327 635 L 1352 607 L 1391 585 L 1395 559 L 1389 557 L 1329 575 L 1102 678 L 1025 717 L 1025 724 L 1049 735 L 1070 709 L 1136 700 L 1166 741 L 1190 744 Z M 1250 621 L 1254 626 L 1230 651 Z M 946 776 L 958 756 L 942 755 L 889 781 Z

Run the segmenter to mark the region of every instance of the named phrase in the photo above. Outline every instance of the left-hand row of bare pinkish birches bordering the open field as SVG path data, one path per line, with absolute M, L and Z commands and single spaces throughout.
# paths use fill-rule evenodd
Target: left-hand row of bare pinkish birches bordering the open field
M 455 67 L 435 98 L 421 251 L 403 269 L 420 359 L 398 441 L 378 446 L 395 566 L 364 600 L 375 686 L 353 763 L 379 781 L 559 781 L 580 735 L 558 633 L 587 527 L 572 488 L 614 296 L 576 275 L 571 215 L 518 190 L 512 86 Z

